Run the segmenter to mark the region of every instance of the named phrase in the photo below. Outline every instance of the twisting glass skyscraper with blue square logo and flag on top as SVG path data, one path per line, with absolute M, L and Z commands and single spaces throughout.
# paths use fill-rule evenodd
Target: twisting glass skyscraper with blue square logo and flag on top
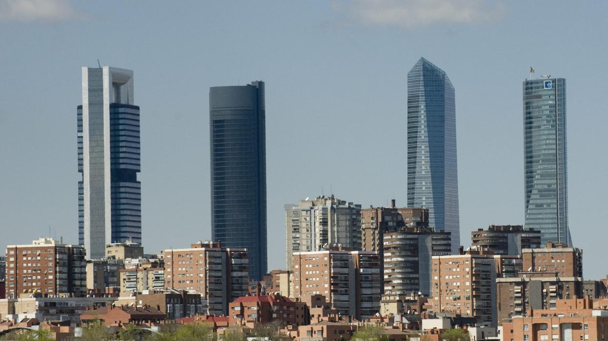
M 566 80 L 523 81 L 525 227 L 572 246 L 568 229 Z

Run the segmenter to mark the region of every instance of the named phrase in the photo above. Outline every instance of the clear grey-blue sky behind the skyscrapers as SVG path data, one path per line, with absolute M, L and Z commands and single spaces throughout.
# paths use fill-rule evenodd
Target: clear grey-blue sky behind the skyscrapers
M 266 82 L 268 269 L 283 204 L 406 205 L 407 72 L 456 94 L 461 240 L 523 224 L 522 81 L 567 79 L 568 204 L 584 277 L 606 277 L 605 1 L 0 0 L 0 249 L 78 241 L 81 67 L 134 71 L 146 252 L 210 239 L 209 88 Z

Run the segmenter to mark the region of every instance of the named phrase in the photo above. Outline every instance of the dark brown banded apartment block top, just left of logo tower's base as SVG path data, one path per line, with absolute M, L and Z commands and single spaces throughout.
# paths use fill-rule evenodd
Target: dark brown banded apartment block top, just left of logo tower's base
M 471 247 L 495 255 L 521 255 L 523 249 L 541 247 L 541 231 L 521 225 L 490 225 L 471 232 Z

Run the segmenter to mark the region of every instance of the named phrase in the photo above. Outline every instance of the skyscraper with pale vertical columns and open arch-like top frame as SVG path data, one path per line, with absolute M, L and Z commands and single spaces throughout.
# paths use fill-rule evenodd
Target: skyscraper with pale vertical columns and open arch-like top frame
M 78 122 L 78 241 L 86 257 L 105 257 L 109 243 L 142 241 L 139 106 L 133 71 L 82 68 Z

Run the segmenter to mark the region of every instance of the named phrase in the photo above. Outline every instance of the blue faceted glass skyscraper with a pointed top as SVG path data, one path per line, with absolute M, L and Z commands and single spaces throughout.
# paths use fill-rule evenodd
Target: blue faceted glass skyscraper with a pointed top
M 446 73 L 420 58 L 407 73 L 407 205 L 429 208 L 429 226 L 460 246 L 456 109 Z

